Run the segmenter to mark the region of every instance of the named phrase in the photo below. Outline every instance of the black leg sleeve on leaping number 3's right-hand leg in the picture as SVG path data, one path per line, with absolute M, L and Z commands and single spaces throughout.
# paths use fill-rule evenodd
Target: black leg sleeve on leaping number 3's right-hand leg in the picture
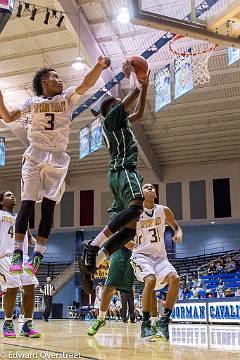
M 54 217 L 54 208 L 56 201 L 43 198 L 41 207 L 41 221 L 38 228 L 38 236 L 48 238 Z

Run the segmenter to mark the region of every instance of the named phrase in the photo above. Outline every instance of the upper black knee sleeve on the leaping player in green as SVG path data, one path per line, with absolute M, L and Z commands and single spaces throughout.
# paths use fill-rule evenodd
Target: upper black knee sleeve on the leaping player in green
M 108 224 L 109 229 L 114 234 L 133 220 L 138 220 L 143 212 L 142 205 L 131 205 L 127 209 L 118 213 Z

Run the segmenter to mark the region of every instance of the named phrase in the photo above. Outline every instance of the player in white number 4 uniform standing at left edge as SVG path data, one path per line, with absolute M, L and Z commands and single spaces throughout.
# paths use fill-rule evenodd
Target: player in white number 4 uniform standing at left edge
M 33 328 L 32 319 L 35 302 L 35 287 L 38 285 L 37 278 L 30 276 L 26 272 L 14 276 L 9 272 L 11 264 L 11 255 L 14 250 L 15 221 L 17 214 L 14 212 L 16 198 L 11 191 L 5 191 L 0 194 L 0 276 L 1 288 L 5 292 L 4 313 L 5 321 L 3 324 L 3 336 L 16 337 L 13 327 L 13 309 L 16 303 L 17 292 L 23 287 L 23 308 L 24 324 L 20 335 L 31 338 L 40 337 L 39 331 Z M 32 237 L 30 231 L 25 235 L 23 242 L 24 258 L 28 256 L 28 244 L 35 244 L 36 240 Z

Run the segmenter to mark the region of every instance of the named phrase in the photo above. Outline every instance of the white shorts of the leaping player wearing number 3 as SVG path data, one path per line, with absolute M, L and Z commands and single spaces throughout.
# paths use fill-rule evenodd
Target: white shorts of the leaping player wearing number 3
M 22 200 L 59 203 L 65 190 L 70 158 L 64 151 L 44 151 L 29 146 L 23 154 Z

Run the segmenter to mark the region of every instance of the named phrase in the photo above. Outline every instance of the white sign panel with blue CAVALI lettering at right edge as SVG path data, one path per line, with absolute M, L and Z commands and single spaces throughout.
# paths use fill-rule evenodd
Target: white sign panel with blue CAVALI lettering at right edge
M 240 323 L 240 302 L 209 302 L 209 322 Z

